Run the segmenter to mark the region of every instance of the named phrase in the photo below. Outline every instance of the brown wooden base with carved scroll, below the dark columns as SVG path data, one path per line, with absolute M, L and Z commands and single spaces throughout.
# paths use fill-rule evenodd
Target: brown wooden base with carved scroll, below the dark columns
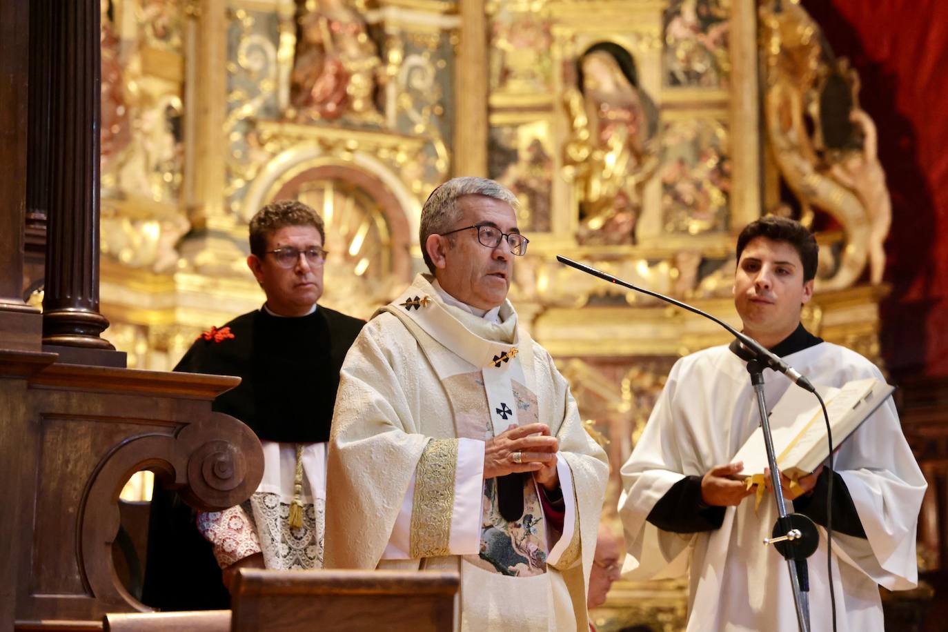
M 112 562 L 118 494 L 151 469 L 194 507 L 245 500 L 263 450 L 210 403 L 239 378 L 80 367 L 55 353 L 0 350 L 0 621 L 101 627 L 106 612 L 148 611 Z

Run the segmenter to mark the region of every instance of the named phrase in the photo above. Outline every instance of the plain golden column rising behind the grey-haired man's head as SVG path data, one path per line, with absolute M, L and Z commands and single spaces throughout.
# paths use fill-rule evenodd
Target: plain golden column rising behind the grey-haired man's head
M 454 77 L 455 176 L 487 177 L 487 16 L 483 0 L 459 0 L 461 32 Z

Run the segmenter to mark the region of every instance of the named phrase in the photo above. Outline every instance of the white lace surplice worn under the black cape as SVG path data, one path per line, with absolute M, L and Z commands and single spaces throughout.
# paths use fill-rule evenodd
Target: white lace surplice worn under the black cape
M 214 545 L 221 568 L 263 552 L 267 569 L 321 569 L 326 506 L 326 444 L 302 450 L 302 527 L 291 529 L 296 473 L 294 443 L 261 442 L 264 479 L 243 504 L 198 515 L 198 530 Z

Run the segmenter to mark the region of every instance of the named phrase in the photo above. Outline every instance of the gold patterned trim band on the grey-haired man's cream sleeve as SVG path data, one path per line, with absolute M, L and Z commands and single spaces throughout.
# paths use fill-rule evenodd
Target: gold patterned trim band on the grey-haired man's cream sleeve
M 458 440 L 432 439 L 415 468 L 411 505 L 411 557 L 449 555 Z

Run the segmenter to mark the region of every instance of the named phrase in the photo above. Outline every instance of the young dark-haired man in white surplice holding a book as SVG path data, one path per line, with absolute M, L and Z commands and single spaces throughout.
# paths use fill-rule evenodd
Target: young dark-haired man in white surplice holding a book
M 840 387 L 882 373 L 856 352 L 822 341 L 800 324 L 812 296 L 817 245 L 793 220 L 766 217 L 738 237 L 734 298 L 745 334 L 816 385 Z M 768 406 L 788 388 L 764 371 Z M 815 401 L 815 400 L 814 400 Z M 772 497 L 755 510 L 754 489 L 730 477 L 759 424 L 746 364 L 728 347 L 679 360 L 646 429 L 622 468 L 619 511 L 628 576 L 682 572 L 690 564 L 688 630 L 797 629 L 787 563 L 762 540 L 776 520 Z M 797 481 L 788 512 L 809 515 L 820 543 L 809 559 L 811 629 L 832 629 L 827 574 L 827 483 L 832 477 L 832 578 L 840 632 L 882 631 L 879 586 L 914 587 L 915 532 L 925 482 L 891 399 Z M 790 483 L 785 476 L 784 483 Z

